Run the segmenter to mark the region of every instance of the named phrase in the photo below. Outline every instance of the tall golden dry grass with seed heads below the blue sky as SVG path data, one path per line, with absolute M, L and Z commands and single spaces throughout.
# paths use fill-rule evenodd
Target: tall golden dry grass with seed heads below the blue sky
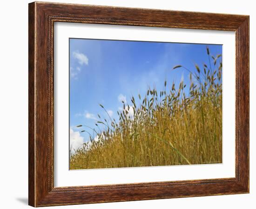
M 188 86 L 164 81 L 162 91 L 132 97 L 117 112 L 119 121 L 98 115 L 104 130 L 94 129 L 98 140 L 88 133 L 91 141 L 71 155 L 70 169 L 221 163 L 222 59 L 209 48 L 207 54 L 202 68 L 173 68 L 189 71 Z

